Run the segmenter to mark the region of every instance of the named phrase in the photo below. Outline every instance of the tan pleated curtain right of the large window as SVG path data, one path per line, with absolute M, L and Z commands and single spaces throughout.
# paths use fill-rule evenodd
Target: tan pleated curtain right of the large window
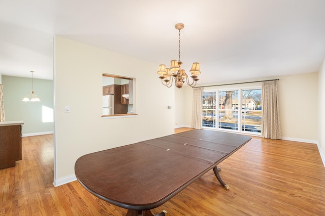
M 279 101 L 276 80 L 262 82 L 261 137 L 281 139 Z

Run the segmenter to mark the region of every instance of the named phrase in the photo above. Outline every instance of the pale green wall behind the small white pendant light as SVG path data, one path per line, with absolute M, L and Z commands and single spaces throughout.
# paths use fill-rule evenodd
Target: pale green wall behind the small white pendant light
M 53 81 L 33 79 L 34 93 L 41 102 L 21 101 L 31 91 L 31 78 L 2 76 L 6 121 L 22 120 L 23 135 L 49 134 L 54 122 L 43 122 L 44 110 L 53 110 Z

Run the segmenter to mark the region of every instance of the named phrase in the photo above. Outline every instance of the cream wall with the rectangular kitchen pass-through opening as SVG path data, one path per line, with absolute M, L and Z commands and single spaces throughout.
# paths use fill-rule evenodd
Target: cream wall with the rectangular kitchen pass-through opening
M 54 184 L 74 175 L 82 155 L 174 133 L 175 93 L 158 65 L 56 36 Z M 102 74 L 136 78 L 137 117 L 102 119 Z M 70 106 L 70 113 L 64 106 Z

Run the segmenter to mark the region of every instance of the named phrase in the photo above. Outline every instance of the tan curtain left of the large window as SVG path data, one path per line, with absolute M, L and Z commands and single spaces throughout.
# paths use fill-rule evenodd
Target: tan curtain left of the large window
M 202 88 L 193 89 L 192 128 L 202 129 Z

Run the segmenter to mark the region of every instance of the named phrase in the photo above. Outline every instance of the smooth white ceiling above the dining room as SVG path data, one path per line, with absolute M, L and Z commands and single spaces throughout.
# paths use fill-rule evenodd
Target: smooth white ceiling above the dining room
M 324 0 L 0 0 L 0 73 L 52 79 L 53 35 L 169 66 L 179 22 L 200 84 L 316 72 L 325 57 Z

